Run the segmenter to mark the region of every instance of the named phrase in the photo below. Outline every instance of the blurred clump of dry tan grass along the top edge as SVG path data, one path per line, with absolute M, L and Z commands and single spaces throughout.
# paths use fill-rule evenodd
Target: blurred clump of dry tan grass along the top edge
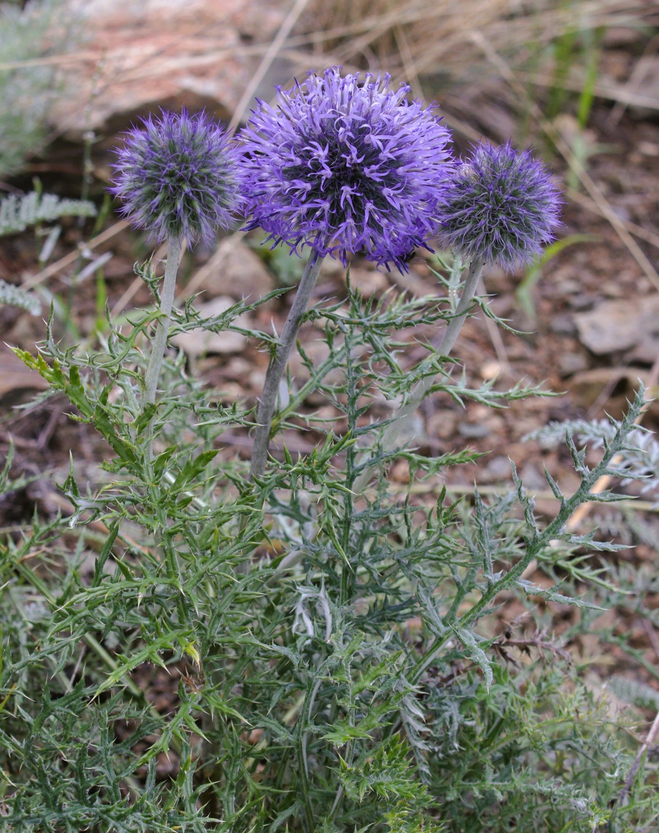
M 571 29 L 636 26 L 656 8 L 624 0 L 582 0 L 557 4 L 542 0 L 512 7 L 508 0 L 316 0 L 302 20 L 307 33 L 290 38 L 284 48 L 312 45 L 314 57 L 337 62 L 366 59 L 371 69 L 386 66 L 392 75 L 406 72 L 410 59 L 418 74 L 451 72 L 464 77 L 482 68 L 471 34 L 484 32 L 497 51 L 524 57 L 528 44 L 549 43 Z M 401 48 L 400 32 L 407 41 Z M 407 55 L 403 52 L 407 51 Z M 396 54 L 400 64 L 396 66 Z M 410 77 L 407 77 L 410 80 Z

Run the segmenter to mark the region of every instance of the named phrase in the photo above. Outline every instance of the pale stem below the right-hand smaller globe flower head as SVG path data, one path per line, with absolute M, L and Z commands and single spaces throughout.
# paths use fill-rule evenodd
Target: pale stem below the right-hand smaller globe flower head
M 464 289 L 462 290 L 460 301 L 457 304 L 456 313 L 448 322 L 446 332 L 442 338 L 442 343 L 437 348 L 437 354 L 439 356 L 448 356 L 452 351 L 453 345 L 456 343 L 457 337 L 462 330 L 462 325 L 467 320 L 469 307 L 472 306 L 473 298 L 476 295 L 482 269 L 483 262 L 480 259 L 473 260 L 469 264 Z M 384 431 L 382 431 L 382 439 L 380 440 L 381 451 L 391 451 L 393 448 L 396 448 L 398 438 L 401 435 L 402 420 L 417 410 L 417 407 L 419 407 L 419 405 L 421 405 L 423 400 L 427 397 L 427 393 L 431 389 L 434 382 L 434 376 L 427 376 L 417 382 L 417 384 L 412 388 L 407 402 L 402 404 L 397 413 L 393 416 L 393 421 L 387 425 Z M 367 468 L 365 468 L 357 477 L 354 486 L 352 486 L 352 490 L 357 493 L 361 491 L 364 486 L 366 486 L 370 475 L 371 466 L 367 466 Z

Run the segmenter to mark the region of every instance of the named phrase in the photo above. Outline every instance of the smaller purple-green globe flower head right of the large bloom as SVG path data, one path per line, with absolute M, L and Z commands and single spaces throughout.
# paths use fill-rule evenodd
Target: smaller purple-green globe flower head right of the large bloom
M 554 239 L 562 199 L 542 162 L 510 142 L 480 142 L 458 162 L 437 217 L 439 239 L 466 260 L 512 269 Z

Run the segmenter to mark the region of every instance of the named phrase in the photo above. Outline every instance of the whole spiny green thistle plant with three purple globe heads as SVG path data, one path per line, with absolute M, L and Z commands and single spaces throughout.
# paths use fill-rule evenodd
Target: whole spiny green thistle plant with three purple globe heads
M 420 105 L 405 104 L 387 82 L 344 80 L 345 86 L 330 70 L 310 77 L 307 87 L 280 93 L 279 110 L 260 105 L 263 119 L 269 113 L 267 143 L 266 133 L 257 142 L 252 123 L 242 162 L 228 167 L 222 182 L 179 177 L 191 147 L 224 148 L 222 160 L 211 154 L 204 170 L 235 159 L 222 137 L 203 145 L 202 135 L 217 136 L 204 119 L 182 117 L 186 127 L 176 141 L 175 117 L 149 120 L 169 141 L 163 149 L 162 132 L 132 135 L 134 155 L 127 151 L 119 171 L 127 177 L 119 182 L 128 216 L 170 244 L 185 235 L 202 237 L 227 222 L 239 204 L 237 194 L 222 190 L 233 182 L 247 193 L 250 223 L 260 211 L 258 200 L 267 198 L 272 211 L 260 215 L 267 224 L 277 213 L 278 195 L 283 213 L 266 232 L 279 234 L 271 239 L 292 249 L 310 250 L 314 266 L 307 268 L 307 282 L 325 256 L 347 261 L 363 251 L 378 264 L 404 267 L 403 241 L 430 245 L 432 228 L 444 222 L 448 229 L 462 210 L 464 189 L 459 200 L 449 199 L 450 177 L 459 178 L 461 168 L 447 158 L 444 128 Z M 384 154 L 378 156 L 383 170 L 387 160 L 403 160 L 401 182 L 415 164 L 404 161 L 412 137 L 407 127 L 402 130 L 399 153 L 397 134 L 387 134 L 386 124 L 399 123 L 397 114 L 412 131 L 413 120 L 405 117 L 420 117 L 415 141 L 420 151 L 434 147 L 427 167 L 436 164 L 426 190 L 411 190 L 418 199 L 411 197 L 408 220 L 391 208 L 392 179 L 380 202 L 372 199 L 379 225 L 356 192 L 352 202 L 349 195 L 341 202 L 349 183 L 337 174 L 341 160 L 347 164 L 340 153 L 329 167 L 339 182 L 333 192 L 322 166 L 300 162 L 304 170 L 292 171 L 295 179 L 288 183 L 281 179 L 286 166 L 278 168 L 278 180 L 272 169 L 268 173 L 268 148 L 274 157 L 284 152 L 287 136 L 298 135 L 289 105 L 300 114 L 300 131 L 317 123 L 333 135 L 350 116 L 359 137 L 359 125 L 366 124 L 363 133 L 372 137 L 367 146 Z M 317 112 L 323 115 L 314 122 Z M 391 120 L 380 122 L 382 113 Z M 423 125 L 434 146 L 419 137 Z M 191 138 L 197 130 L 199 146 Z M 177 155 L 177 141 L 187 155 Z M 366 147 L 350 144 L 357 156 L 348 148 L 348 161 Z M 643 715 L 630 709 L 616 716 L 585 679 L 584 671 L 594 674 L 591 659 L 582 661 L 572 649 L 584 635 L 597 634 L 651 673 L 626 630 L 602 625 L 601 616 L 603 607 L 621 606 L 659 625 L 653 595 L 659 586 L 656 576 L 615 561 L 618 544 L 567 529 L 583 503 L 625 499 L 617 491 L 596 493 L 602 476 L 627 481 L 651 470 L 642 451 L 654 452 L 635 426 L 644 392 L 622 421 L 597 426 L 597 438 L 583 426 L 564 426 L 562 441 L 578 485 L 564 494 L 547 472 L 557 499 L 549 517 L 537 512 L 514 467 L 507 493 L 486 501 L 474 490 L 468 499 L 453 499 L 447 470 L 480 455 L 465 449 L 427 456 L 400 441 L 387 447 L 391 421 L 383 425 L 369 411 L 376 397 L 402 399 L 409 407 L 419 386 L 459 404 L 474 400 L 489 407 L 537 395 L 536 387 L 521 384 L 511 390 L 492 382 L 474 386 L 469 367 L 455 372 L 458 362 L 447 362 L 472 312 L 482 263 L 501 257 L 492 243 L 502 234 L 497 223 L 510 232 L 512 219 L 536 210 L 534 200 L 557 206 L 544 169 L 514 153 L 527 159 L 524 170 L 532 167 L 542 176 L 527 181 L 535 185 L 526 188 L 517 214 L 505 202 L 498 212 L 492 209 L 487 228 L 472 223 L 477 245 L 466 250 L 467 237 L 461 238 L 451 266 L 436 272 L 447 293 L 364 300 L 348 278 L 345 297 L 306 311 L 298 305 L 295 326 L 302 315 L 313 322 L 326 353 L 314 362 L 300 345 L 307 379 L 291 386 L 277 424 L 311 426 L 321 439 L 297 457 L 284 449 L 277 465 L 254 470 L 252 463 L 255 476 L 230 451 L 236 432 L 253 427 L 250 403 L 209 394 L 181 355 L 169 353 L 162 361 L 160 381 L 168 395 L 161 407 L 145 407 L 139 367 L 150 340 L 150 312 L 134 312 L 127 332 L 108 322 L 97 351 L 64 350 L 52 322 L 37 356 L 16 351 L 67 397 L 75 417 L 94 426 L 111 451 L 91 481 L 79 482 L 73 462 L 60 478 L 71 507 L 67 518 L 35 513 L 21 531 L 11 529 L 0 540 L 2 830 L 652 830 L 659 813 L 657 765 L 638 765 L 630 749 Z M 505 156 L 512 154 L 508 149 Z M 206 157 L 192 156 L 197 163 L 187 170 L 198 172 Z M 161 168 L 153 159 L 176 160 L 167 179 L 171 190 L 157 179 Z M 266 172 L 257 182 L 259 165 Z M 147 169 L 167 201 L 159 202 L 157 185 L 144 186 L 137 176 Z M 510 169 L 517 177 L 515 165 Z M 481 170 L 482 180 L 469 179 L 474 197 L 489 193 L 488 169 Z M 306 177 L 308 192 L 318 188 L 315 207 L 303 199 Z M 318 177 L 326 180 L 324 190 Z M 191 182 L 209 193 L 191 190 Z M 287 204 L 293 192 L 294 202 Z M 327 208 L 327 226 L 317 225 L 325 217 L 318 201 L 326 193 L 335 202 Z M 178 225 L 163 213 L 166 207 Z M 543 217 L 541 237 L 552 233 L 557 219 L 551 210 Z M 525 237 L 517 256 L 525 257 L 541 237 Z M 140 272 L 154 284 L 148 265 Z M 245 331 L 237 320 L 274 294 L 239 302 L 205 322 L 192 305 L 172 307 L 172 334 L 203 326 L 247 332 L 272 344 L 270 333 Z M 446 334 L 439 347 L 426 344 L 427 357 L 411 366 L 410 334 L 417 337 L 421 327 L 445 327 Z M 417 338 L 415 347 L 420 343 Z M 285 364 L 287 353 L 279 349 Z M 322 413 L 311 410 L 318 398 L 326 403 Z M 555 439 L 559 431 L 552 426 L 549 433 Z M 587 458 L 582 437 L 595 441 L 597 460 Z M 407 464 L 407 483 L 387 479 L 394 461 Z M 11 461 L 1 468 L 0 496 L 25 485 Z M 542 581 L 528 575 L 532 564 Z M 552 632 L 555 602 L 572 608 L 560 635 Z M 501 633 L 506 605 L 517 618 Z M 634 699 L 639 693 L 629 686 L 617 691 Z

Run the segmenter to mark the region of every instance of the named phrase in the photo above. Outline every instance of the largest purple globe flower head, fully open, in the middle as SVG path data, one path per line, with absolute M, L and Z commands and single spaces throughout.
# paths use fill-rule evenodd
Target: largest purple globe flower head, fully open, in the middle
M 364 250 L 407 271 L 405 257 L 426 246 L 447 177 L 450 135 L 409 87 L 390 77 L 341 77 L 340 67 L 307 74 L 277 105 L 258 102 L 242 130 L 247 230 L 319 256 Z

